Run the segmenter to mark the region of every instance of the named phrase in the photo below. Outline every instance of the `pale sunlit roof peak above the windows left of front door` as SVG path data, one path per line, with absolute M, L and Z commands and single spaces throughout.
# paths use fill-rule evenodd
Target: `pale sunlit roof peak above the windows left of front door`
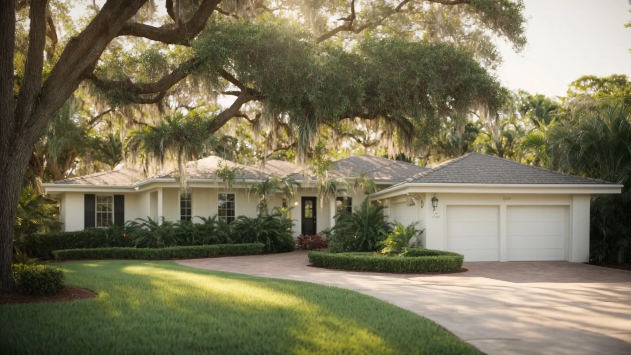
M 218 169 L 220 164 L 222 167 L 238 167 L 241 169 L 240 172 L 237 172 L 237 180 L 267 179 L 270 177 L 266 172 L 262 172 L 254 167 L 237 164 L 230 160 L 216 157 L 215 155 L 199 159 L 196 162 L 189 162 L 189 164 L 186 165 L 186 177 L 188 179 L 215 179 L 215 171 Z M 175 178 L 175 176 L 177 176 L 177 171 L 160 174 L 155 178 Z

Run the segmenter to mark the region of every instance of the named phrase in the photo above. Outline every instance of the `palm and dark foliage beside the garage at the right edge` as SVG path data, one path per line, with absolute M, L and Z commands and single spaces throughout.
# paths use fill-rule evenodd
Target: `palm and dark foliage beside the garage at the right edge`
M 558 168 L 624 184 L 622 194 L 591 205 L 591 254 L 597 262 L 631 262 L 631 107 L 622 99 L 581 98 L 569 121 L 550 130 Z

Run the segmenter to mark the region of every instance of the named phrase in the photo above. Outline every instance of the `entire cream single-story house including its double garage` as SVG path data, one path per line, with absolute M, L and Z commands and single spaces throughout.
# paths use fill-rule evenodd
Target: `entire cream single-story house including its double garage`
M 540 167 L 480 153 L 469 153 L 428 169 L 374 155 L 333 163 L 329 178 L 372 179 L 378 191 L 369 198 L 387 208 L 389 220 L 418 222 L 425 248 L 462 253 L 467 262 L 568 260 L 589 257 L 589 203 L 598 195 L 620 193 L 622 185 L 561 174 Z M 227 186 L 215 176 L 221 166 L 238 167 L 237 183 Z M 291 162 L 268 160 L 241 165 L 211 156 L 187 164 L 189 189 L 180 191 L 175 172 L 143 178 L 133 169 L 100 172 L 43 184 L 60 203 L 66 231 L 124 224 L 128 220 L 166 220 L 218 215 L 231 222 L 257 214 L 258 196 L 247 186 L 272 176 L 288 176 L 301 184 L 291 201 L 281 193 L 270 207 L 293 207 L 293 234 L 315 234 L 335 224 L 340 210 L 352 210 L 367 195 L 341 188 L 319 201 L 315 178 Z M 351 185 L 352 183 L 350 183 Z

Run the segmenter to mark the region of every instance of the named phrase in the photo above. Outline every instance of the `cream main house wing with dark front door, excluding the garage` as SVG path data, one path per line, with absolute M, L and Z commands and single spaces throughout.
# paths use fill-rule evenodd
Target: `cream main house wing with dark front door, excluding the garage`
M 239 169 L 236 182 L 230 187 L 215 176 L 215 171 L 225 166 Z M 360 155 L 334 162 L 329 176 L 352 181 L 358 174 L 365 173 L 379 188 L 386 188 L 427 170 L 415 164 Z M 295 164 L 281 160 L 251 166 L 210 156 L 187 164 L 186 174 L 189 186 L 186 193 L 180 191 L 175 171 L 143 178 L 139 171 L 119 169 L 42 186 L 47 194 L 59 201 L 59 215 L 65 231 L 103 227 L 110 222 L 124 224 L 146 217 L 195 221 L 196 217 L 218 215 L 223 222 L 231 222 L 239 215 L 254 217 L 258 196 L 251 195 L 247 187 L 274 175 L 288 176 L 300 184 L 292 201 L 283 201 L 283 194 L 278 193 L 269 202 L 270 209 L 283 205 L 292 207 L 290 217 L 298 221 L 293 231 L 295 236 L 316 234 L 333 226 L 333 216 L 338 210 L 352 208 L 367 197 L 363 190 L 346 186 L 346 189 L 341 187 L 338 196 L 319 201 L 314 189 L 315 178 L 305 178 Z

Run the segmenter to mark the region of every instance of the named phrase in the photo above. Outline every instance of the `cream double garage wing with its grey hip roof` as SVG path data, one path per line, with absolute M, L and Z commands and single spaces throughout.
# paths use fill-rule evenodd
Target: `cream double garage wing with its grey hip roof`
M 423 246 L 465 262 L 589 262 L 591 198 L 623 185 L 480 153 L 447 160 L 370 195 L 379 204 L 425 196 Z

